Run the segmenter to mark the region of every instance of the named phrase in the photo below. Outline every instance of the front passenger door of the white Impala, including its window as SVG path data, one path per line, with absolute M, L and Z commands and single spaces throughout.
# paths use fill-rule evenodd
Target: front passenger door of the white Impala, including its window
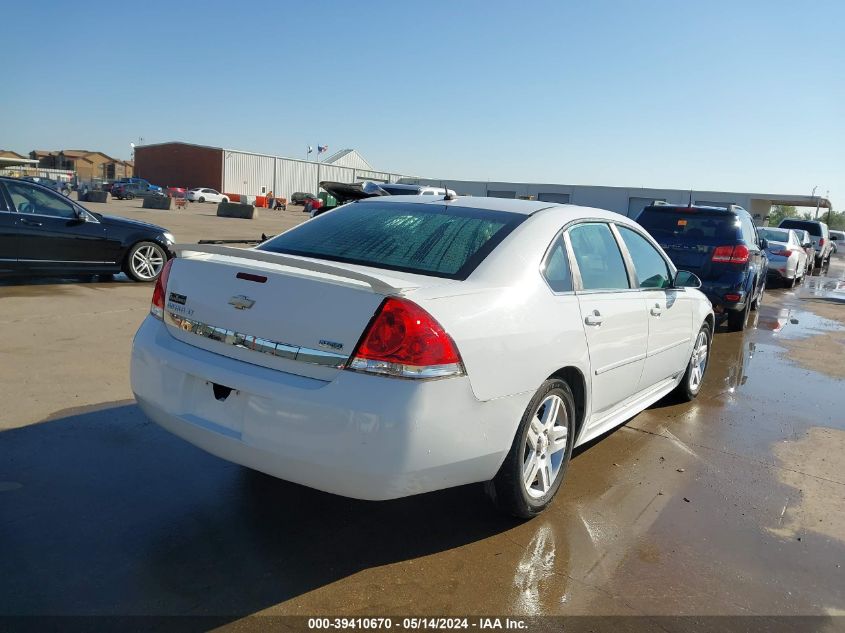
M 638 391 L 684 371 L 690 357 L 692 302 L 683 288 L 673 288 L 673 270 L 642 233 L 616 225 L 625 244 L 648 319 L 648 350 Z

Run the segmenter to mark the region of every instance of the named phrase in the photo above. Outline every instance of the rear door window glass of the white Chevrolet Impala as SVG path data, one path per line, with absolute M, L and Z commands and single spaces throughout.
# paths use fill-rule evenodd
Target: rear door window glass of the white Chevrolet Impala
M 584 290 L 629 288 L 622 253 L 607 224 L 579 224 L 569 231 Z

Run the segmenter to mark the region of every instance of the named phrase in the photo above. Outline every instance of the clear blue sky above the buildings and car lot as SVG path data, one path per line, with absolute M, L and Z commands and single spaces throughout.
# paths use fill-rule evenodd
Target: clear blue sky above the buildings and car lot
M 845 205 L 841 0 L 42 1 L 3 22 L 4 149 L 325 143 L 411 175 Z

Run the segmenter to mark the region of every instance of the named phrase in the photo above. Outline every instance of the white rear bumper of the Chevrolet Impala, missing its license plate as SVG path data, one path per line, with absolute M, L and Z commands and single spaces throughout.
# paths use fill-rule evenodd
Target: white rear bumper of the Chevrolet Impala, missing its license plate
M 135 336 L 131 377 L 152 420 L 209 453 L 371 500 L 492 479 L 532 395 L 480 402 L 465 376 L 314 380 L 192 347 L 152 317 Z M 232 388 L 225 400 L 215 383 Z

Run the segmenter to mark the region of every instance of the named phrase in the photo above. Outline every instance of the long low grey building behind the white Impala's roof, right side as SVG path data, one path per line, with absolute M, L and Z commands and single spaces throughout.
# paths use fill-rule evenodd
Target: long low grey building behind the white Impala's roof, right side
M 634 187 L 591 187 L 585 185 L 555 185 L 519 182 L 484 182 L 478 180 L 435 180 L 430 178 L 402 178 L 400 182 L 425 184 L 454 189 L 458 195 L 490 196 L 494 198 L 529 198 L 562 204 L 580 204 L 616 211 L 636 218 L 640 211 L 654 201 L 669 204 L 725 205 L 738 204 L 748 210 L 758 224 L 769 216 L 772 205 L 790 204 L 796 207 L 831 208 L 830 201 L 819 196 L 780 195 L 765 193 L 736 193 L 728 191 L 690 191 L 689 189 L 642 189 Z

